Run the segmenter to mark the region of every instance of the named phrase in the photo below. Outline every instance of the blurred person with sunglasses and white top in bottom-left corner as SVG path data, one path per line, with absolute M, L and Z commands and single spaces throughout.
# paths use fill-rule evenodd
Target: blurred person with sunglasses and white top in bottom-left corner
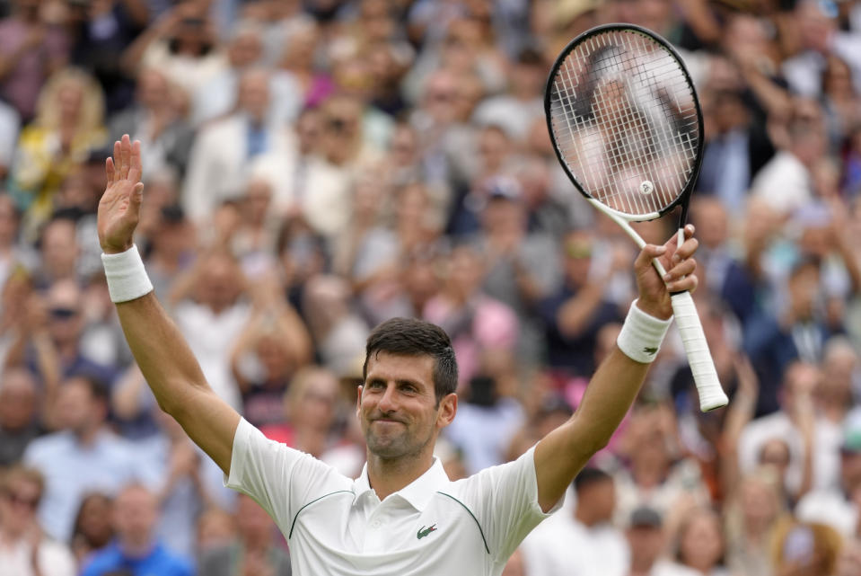
M 0 476 L 0 576 L 75 576 L 72 553 L 36 519 L 43 488 L 33 468 L 13 466 Z

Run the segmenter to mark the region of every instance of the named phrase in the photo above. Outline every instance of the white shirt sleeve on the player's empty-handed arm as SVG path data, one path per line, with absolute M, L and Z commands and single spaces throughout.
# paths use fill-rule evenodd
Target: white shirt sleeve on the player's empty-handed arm
M 257 501 L 283 531 L 305 504 L 349 490 L 353 481 L 313 456 L 267 439 L 243 418 L 233 437 L 224 485 Z

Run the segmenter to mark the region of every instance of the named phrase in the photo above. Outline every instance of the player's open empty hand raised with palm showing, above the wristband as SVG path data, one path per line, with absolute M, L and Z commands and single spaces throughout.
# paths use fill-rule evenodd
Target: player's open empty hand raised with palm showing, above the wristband
M 105 175 L 108 185 L 99 202 L 99 244 L 104 253 L 121 253 L 132 246 L 144 199 L 140 142 L 132 144 L 127 134 L 114 142 L 113 158 L 105 161 Z

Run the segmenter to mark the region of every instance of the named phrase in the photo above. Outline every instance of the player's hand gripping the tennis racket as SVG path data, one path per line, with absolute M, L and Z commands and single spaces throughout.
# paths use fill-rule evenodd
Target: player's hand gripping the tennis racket
M 672 316 L 672 304 L 670 296 L 674 292 L 685 290 L 693 291 L 697 288 L 697 262 L 691 256 L 697 251 L 698 241 L 693 237 L 694 226 L 685 226 L 685 241 L 678 247 L 677 236 L 663 244 L 655 246 L 646 244 L 634 262 L 634 270 L 637 275 L 637 288 L 639 299 L 637 306 L 656 318 L 669 318 Z M 662 279 L 652 259 L 657 258 L 663 264 L 667 275 Z

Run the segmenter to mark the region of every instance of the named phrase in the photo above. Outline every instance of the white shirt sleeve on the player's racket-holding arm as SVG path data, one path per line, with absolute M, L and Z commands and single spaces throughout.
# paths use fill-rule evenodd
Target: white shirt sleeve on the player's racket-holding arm
M 549 512 L 538 503 L 535 447 L 514 462 L 492 466 L 455 483 L 464 503 L 473 511 L 488 540 L 490 554 L 504 561 L 541 520 L 558 510 L 564 497 Z

